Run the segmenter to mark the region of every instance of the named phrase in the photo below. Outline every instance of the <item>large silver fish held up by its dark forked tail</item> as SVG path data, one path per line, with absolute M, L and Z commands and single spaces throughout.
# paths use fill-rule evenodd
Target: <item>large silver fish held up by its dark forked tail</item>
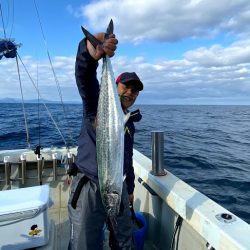
M 95 48 L 101 44 L 86 29 L 82 27 L 82 30 Z M 106 33 L 113 33 L 112 20 Z M 129 115 L 124 118 L 111 61 L 105 55 L 97 108 L 96 152 L 101 198 L 109 217 L 115 217 L 120 209 L 123 186 L 124 121 L 128 117 Z

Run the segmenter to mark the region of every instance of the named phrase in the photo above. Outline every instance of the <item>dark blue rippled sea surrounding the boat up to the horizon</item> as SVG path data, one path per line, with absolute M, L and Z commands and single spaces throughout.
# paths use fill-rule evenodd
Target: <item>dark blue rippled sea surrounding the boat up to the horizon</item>
M 82 105 L 65 105 L 67 115 L 61 105 L 48 108 L 65 141 L 76 143 Z M 250 224 L 250 106 L 135 108 L 143 119 L 134 147 L 151 158 L 151 131 L 164 131 L 166 169 Z M 32 147 L 39 141 L 43 147 L 64 145 L 42 104 L 25 104 L 25 110 Z M 0 150 L 26 147 L 22 105 L 0 104 Z

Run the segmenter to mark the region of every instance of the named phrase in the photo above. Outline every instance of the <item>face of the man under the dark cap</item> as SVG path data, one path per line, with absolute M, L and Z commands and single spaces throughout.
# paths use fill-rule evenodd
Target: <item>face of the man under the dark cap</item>
M 123 110 L 126 110 L 131 107 L 139 94 L 139 90 L 135 88 L 134 84 L 123 84 L 121 82 L 119 82 L 117 85 L 117 92 L 120 96 Z

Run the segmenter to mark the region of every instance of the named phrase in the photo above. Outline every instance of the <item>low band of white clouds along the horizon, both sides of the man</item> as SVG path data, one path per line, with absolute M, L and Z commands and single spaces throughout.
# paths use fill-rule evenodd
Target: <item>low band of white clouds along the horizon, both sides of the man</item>
M 124 71 L 135 71 L 144 83 L 140 103 L 223 103 L 250 104 L 250 40 L 233 43 L 223 48 L 214 45 L 188 51 L 181 60 L 155 60 L 144 57 L 130 59 L 113 57 L 115 77 Z M 52 62 L 59 80 L 64 100 L 79 100 L 74 78 L 74 57 L 54 57 Z M 39 89 L 45 99 L 59 100 L 53 73 L 48 61 L 37 63 L 32 57 L 24 57 L 30 75 L 36 83 L 38 67 Z M 14 60 L 1 60 L 0 98 L 19 97 L 19 83 Z M 37 94 L 20 66 L 26 99 Z M 98 69 L 101 74 L 101 65 Z M 12 87 L 9 87 L 12 86 Z

